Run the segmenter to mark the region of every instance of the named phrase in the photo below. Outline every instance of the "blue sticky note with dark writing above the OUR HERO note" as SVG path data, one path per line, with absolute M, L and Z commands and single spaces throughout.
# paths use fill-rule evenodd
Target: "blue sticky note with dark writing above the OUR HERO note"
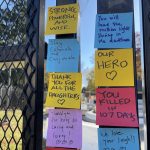
M 95 48 L 131 48 L 133 13 L 97 14 Z

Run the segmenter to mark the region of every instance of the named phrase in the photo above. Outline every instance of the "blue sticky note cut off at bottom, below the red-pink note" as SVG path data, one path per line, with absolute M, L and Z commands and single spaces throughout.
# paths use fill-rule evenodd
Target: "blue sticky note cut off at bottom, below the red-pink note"
M 136 128 L 99 128 L 99 150 L 140 150 Z

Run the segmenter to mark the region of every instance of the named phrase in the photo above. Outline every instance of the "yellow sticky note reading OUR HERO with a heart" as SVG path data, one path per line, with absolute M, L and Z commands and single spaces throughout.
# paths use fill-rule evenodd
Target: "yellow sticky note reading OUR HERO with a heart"
M 95 85 L 134 86 L 133 49 L 96 51 Z

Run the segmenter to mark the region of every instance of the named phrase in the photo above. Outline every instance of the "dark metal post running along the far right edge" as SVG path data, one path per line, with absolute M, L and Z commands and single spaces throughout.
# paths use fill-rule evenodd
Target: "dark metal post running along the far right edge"
M 142 0 L 147 149 L 150 149 L 150 0 Z

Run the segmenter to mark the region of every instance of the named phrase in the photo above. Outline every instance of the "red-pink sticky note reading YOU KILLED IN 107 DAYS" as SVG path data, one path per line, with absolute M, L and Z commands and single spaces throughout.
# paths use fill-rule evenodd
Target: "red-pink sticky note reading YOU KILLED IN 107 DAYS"
M 135 88 L 96 89 L 96 124 L 138 127 Z

